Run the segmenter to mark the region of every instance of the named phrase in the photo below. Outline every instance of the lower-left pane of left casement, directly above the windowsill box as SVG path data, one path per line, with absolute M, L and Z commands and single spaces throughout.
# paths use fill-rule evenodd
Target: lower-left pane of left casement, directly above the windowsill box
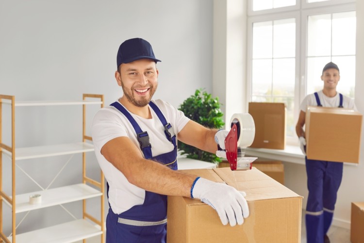
M 253 60 L 252 95 L 271 95 L 272 91 L 272 59 Z

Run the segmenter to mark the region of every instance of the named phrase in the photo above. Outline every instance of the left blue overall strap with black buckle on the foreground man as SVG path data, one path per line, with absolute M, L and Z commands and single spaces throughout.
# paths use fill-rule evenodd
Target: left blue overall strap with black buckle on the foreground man
M 114 106 L 117 110 L 119 110 L 121 113 L 123 113 L 126 118 L 128 118 L 129 122 L 132 124 L 132 127 L 135 130 L 136 138 L 138 139 L 138 142 L 140 144 L 140 148 L 143 151 L 144 157 L 146 159 L 151 159 L 152 153 L 151 153 L 151 145 L 149 143 L 148 132 L 141 130 L 141 128 L 139 127 L 138 123 L 136 123 L 136 121 L 132 117 L 132 115 L 119 102 L 114 102 L 111 104 L 111 106 Z

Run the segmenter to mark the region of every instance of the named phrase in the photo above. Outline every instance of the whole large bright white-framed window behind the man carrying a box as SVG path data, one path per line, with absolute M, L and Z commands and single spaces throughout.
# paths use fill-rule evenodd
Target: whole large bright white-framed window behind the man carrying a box
M 322 89 L 320 76 L 325 64 L 339 66 L 338 92 L 354 98 L 355 1 L 248 3 L 247 101 L 284 102 L 286 141 L 297 144 L 299 105 L 307 94 Z

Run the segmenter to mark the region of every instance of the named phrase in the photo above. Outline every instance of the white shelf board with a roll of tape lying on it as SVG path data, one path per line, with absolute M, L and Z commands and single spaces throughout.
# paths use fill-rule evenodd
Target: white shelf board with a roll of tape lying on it
M 29 203 L 29 196 L 33 194 L 40 194 L 42 196 L 41 203 Z M 57 187 L 45 191 L 18 194 L 15 196 L 15 213 L 42 209 L 101 195 L 102 193 L 100 191 L 83 183 Z M 11 207 L 7 200 L 4 200 L 4 202 Z

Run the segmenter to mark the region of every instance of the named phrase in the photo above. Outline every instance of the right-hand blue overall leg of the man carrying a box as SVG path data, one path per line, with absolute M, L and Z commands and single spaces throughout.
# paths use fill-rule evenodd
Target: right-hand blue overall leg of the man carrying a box
M 327 234 L 333 217 L 337 191 L 343 178 L 343 163 L 327 162 L 324 177 L 323 207 L 324 207 L 324 234 Z

